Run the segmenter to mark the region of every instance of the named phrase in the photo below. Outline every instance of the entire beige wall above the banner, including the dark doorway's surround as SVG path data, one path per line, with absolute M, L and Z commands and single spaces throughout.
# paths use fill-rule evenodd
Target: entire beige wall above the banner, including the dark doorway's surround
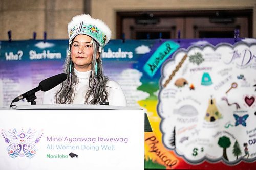
M 13 40 L 32 39 L 34 31 L 37 39 L 43 38 L 44 31 L 48 39 L 67 39 L 68 22 L 88 8 L 92 17 L 110 26 L 112 39 L 116 38 L 117 11 L 253 9 L 256 38 L 255 0 L 1 0 L 0 40 L 8 40 L 8 30 Z

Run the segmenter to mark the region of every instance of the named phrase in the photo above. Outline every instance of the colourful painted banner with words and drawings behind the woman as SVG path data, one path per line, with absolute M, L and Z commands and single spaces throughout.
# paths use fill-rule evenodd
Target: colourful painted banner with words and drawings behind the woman
M 67 44 L 1 41 L 0 107 L 60 73 Z M 128 106 L 150 119 L 145 169 L 255 167 L 256 39 L 111 40 L 102 58 Z

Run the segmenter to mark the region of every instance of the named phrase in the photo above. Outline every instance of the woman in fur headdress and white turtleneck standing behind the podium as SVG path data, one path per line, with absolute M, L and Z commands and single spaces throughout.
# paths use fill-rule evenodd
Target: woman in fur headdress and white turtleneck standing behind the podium
M 68 24 L 68 78 L 45 92 L 44 104 L 104 104 L 127 106 L 121 86 L 103 74 L 101 52 L 111 38 L 110 28 L 90 15 L 73 17 Z

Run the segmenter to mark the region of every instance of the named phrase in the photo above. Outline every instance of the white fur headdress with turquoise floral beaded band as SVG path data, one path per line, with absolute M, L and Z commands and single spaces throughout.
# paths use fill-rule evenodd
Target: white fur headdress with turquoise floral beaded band
M 78 34 L 85 34 L 97 41 L 103 48 L 111 38 L 110 28 L 99 19 L 88 14 L 74 16 L 68 24 L 69 44 Z

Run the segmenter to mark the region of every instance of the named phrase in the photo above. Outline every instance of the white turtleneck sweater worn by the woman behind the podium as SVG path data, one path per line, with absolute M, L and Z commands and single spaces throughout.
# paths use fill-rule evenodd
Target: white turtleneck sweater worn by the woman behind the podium
M 87 72 L 80 72 L 75 70 L 75 74 L 79 80 L 76 85 L 74 100 L 72 104 L 84 104 L 86 92 L 89 89 L 89 78 L 92 70 Z M 60 85 L 54 87 L 53 89 L 46 91 L 44 94 L 43 104 L 54 104 L 54 96 L 56 92 L 60 89 Z M 111 106 L 127 106 L 126 98 L 123 93 L 121 86 L 112 80 L 106 83 L 106 91 L 108 91 L 108 102 Z M 89 101 L 92 99 L 90 96 Z

